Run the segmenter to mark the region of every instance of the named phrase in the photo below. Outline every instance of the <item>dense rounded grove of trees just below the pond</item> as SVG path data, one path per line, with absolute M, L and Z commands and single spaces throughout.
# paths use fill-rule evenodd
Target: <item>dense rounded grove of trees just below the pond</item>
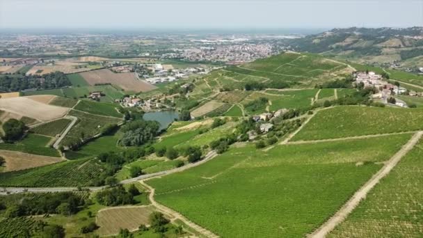
M 159 133 L 159 122 L 134 120 L 122 127 L 124 133 L 120 145 L 138 146 L 148 143 Z

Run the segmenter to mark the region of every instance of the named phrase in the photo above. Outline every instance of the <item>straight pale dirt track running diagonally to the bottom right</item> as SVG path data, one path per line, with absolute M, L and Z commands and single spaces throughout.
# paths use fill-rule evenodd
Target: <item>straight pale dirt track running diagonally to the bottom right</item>
M 407 154 L 413 147 L 417 144 L 417 142 L 420 140 L 420 138 L 423 135 L 423 131 L 417 132 L 414 134 L 412 138 L 410 138 L 410 141 L 408 141 L 402 148 L 399 150 L 396 154 L 394 154 L 393 157 L 381 168 L 381 170 L 376 173 L 369 181 L 367 181 L 354 195 L 341 207 L 341 209 L 332 216 L 326 223 L 321 225 L 320 228 L 315 230 L 309 237 L 313 238 L 321 238 L 326 237 L 330 231 L 332 231 L 338 224 L 340 224 L 344 219 L 346 219 L 346 216 L 348 216 L 354 208 L 356 208 L 360 201 L 365 199 L 367 196 L 367 193 L 369 193 L 370 190 L 373 189 L 373 187 L 378 184 L 378 182 L 383 179 L 392 168 L 394 168 L 398 162 L 401 160 L 404 155 Z

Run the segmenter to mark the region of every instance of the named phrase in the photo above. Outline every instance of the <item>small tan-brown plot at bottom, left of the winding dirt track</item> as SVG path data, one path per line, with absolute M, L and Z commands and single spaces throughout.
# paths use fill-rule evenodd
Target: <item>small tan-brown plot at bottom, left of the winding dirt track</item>
M 119 230 L 138 230 L 141 224 L 148 225 L 148 216 L 153 207 L 111 207 L 99 210 L 96 223 L 99 225 L 97 233 L 100 236 L 118 235 Z

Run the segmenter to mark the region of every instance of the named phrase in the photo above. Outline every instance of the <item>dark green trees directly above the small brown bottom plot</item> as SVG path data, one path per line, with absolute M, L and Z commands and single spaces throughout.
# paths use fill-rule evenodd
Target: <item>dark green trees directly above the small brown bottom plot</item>
M 135 187 L 134 184 L 131 184 L 128 190 L 119 184 L 116 187 L 110 189 L 104 189 L 99 191 L 95 198 L 97 202 L 105 206 L 118 206 L 118 205 L 128 205 L 134 204 L 134 196 L 141 194 L 140 191 Z

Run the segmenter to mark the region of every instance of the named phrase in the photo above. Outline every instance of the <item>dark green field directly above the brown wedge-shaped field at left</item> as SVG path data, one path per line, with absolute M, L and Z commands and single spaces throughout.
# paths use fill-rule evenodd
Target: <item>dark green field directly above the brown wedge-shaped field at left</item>
M 14 150 L 29 154 L 60 157 L 60 154 L 56 149 L 46 147 L 50 140 L 51 137 L 28 134 L 22 141 L 17 141 L 15 143 L 1 143 L 0 150 Z

